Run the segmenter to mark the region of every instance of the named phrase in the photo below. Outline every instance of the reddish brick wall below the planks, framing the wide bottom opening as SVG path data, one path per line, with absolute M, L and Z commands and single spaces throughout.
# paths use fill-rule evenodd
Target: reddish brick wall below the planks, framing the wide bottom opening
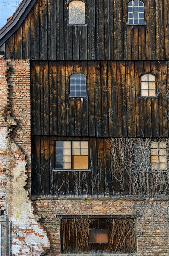
M 35 213 L 41 217 L 50 240 L 48 256 L 60 255 L 61 215 L 134 215 L 137 217 L 137 255 L 169 255 L 167 199 L 34 198 L 33 201 Z

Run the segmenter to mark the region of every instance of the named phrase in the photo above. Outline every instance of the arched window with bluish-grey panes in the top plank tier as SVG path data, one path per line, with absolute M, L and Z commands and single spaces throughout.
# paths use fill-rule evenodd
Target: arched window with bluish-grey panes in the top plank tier
M 130 1 L 128 3 L 128 24 L 143 25 L 144 22 L 144 3 L 141 1 Z

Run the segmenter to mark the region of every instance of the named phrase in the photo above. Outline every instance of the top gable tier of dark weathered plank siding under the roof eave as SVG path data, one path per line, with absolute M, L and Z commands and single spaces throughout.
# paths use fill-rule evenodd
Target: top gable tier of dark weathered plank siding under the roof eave
M 168 60 L 169 0 L 145 1 L 145 25 L 127 25 L 126 0 L 87 0 L 86 25 L 69 25 L 63 0 L 37 0 L 6 40 L 6 58 Z

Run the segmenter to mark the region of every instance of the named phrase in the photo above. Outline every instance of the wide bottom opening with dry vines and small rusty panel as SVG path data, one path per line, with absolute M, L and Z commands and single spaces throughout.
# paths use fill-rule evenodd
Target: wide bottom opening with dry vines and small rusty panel
M 63 218 L 62 253 L 136 252 L 136 220 L 133 218 Z

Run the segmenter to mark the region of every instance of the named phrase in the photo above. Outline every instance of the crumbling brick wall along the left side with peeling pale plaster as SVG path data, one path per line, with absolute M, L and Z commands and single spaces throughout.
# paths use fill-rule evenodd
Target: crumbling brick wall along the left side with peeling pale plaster
M 30 111 L 29 61 L 5 61 L 0 56 L 0 210 L 11 221 L 12 255 L 40 256 L 49 242 L 28 196 Z

